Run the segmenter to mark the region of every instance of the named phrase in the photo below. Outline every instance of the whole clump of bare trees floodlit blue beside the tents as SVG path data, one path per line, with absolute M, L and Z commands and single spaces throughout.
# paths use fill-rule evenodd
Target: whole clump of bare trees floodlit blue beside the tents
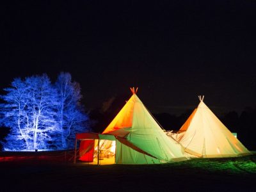
M 61 73 L 14 79 L 1 95 L 1 124 L 10 127 L 4 150 L 48 150 L 74 147 L 76 132 L 88 130 L 88 115 L 80 104 L 80 86 Z

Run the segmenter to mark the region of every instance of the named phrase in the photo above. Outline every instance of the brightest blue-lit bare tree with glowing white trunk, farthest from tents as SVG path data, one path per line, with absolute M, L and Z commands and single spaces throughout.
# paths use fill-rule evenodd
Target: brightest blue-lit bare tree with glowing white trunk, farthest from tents
M 10 134 L 3 143 L 4 150 L 49 149 L 52 134 L 60 132 L 56 116 L 56 90 L 47 75 L 15 79 L 7 94 L 1 98 L 4 118 Z

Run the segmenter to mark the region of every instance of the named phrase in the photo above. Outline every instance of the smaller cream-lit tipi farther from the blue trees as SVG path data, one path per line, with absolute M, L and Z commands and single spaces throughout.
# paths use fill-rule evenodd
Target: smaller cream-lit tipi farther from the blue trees
M 250 154 L 225 125 L 205 105 L 199 96 L 198 107 L 182 125 L 179 132 L 167 132 L 191 157 L 236 157 Z

